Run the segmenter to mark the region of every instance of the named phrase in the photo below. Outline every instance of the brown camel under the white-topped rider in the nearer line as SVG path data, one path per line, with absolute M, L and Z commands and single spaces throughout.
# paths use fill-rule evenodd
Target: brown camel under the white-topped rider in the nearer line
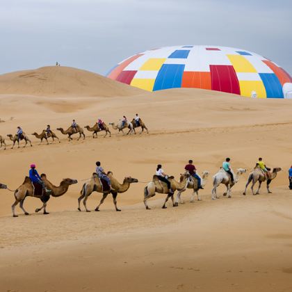
M 183 190 L 186 188 L 188 184 L 188 177 L 190 177 L 189 174 L 183 174 L 179 178 L 179 182 L 175 180 L 175 177 L 168 177 L 168 180 L 170 181 L 170 185 L 172 190 L 175 192 L 175 190 Z M 162 209 L 166 209 L 165 206 L 166 202 L 168 202 L 168 199 L 171 197 L 172 200 L 172 206 L 177 206 L 175 204 L 174 200 L 174 193 L 169 193 L 168 186 L 165 184 L 165 182 L 160 181 L 156 175 L 153 176 L 153 180 L 150 181 L 147 186 L 144 188 L 144 204 L 146 207 L 146 210 L 150 210 L 147 200 L 149 200 L 150 197 L 154 197 L 156 193 L 160 194 L 168 194 L 165 198 L 164 204 L 162 206 Z

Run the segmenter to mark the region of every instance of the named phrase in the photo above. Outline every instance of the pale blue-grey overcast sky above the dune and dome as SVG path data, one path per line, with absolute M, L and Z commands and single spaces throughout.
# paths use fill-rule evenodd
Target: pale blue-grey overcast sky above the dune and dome
M 0 74 L 45 65 L 106 74 L 154 47 L 213 44 L 292 75 L 291 0 L 0 0 Z

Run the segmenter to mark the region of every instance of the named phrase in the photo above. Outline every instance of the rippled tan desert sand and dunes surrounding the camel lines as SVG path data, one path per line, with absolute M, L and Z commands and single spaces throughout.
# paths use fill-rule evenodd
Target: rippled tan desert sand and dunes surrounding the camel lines
M 45 78 L 44 78 L 45 76 Z M 44 79 L 44 80 L 42 80 Z M 77 81 L 79 80 L 80 83 Z M 53 86 L 54 84 L 54 86 Z M 41 206 L 28 197 L 31 213 L 17 206 L 13 193 L 0 190 L 0 291 L 292 291 L 292 191 L 287 170 L 292 164 L 292 107 L 289 100 L 249 99 L 207 90 L 176 89 L 144 92 L 82 70 L 44 67 L 0 76 L 0 135 L 21 125 L 28 134 L 67 128 L 72 119 L 82 127 L 97 117 L 117 122 L 122 115 L 140 115 L 149 134 L 0 149 L 0 182 L 17 188 L 30 163 L 54 184 L 65 177 L 79 184 L 51 198 L 49 215 L 34 213 Z M 138 130 L 139 131 L 139 130 Z M 22 146 L 23 146 L 22 142 Z M 248 190 L 248 172 L 232 189 L 232 198 L 211 200 L 212 176 L 225 157 L 232 167 L 252 170 L 259 156 L 271 168 L 281 167 L 261 194 Z M 143 188 L 156 164 L 179 177 L 188 159 L 199 172 L 211 175 L 202 201 L 161 209 L 164 195 L 149 200 Z M 91 213 L 77 211 L 82 184 L 95 171 L 95 161 L 140 182 L 118 195 L 115 212 L 111 197 L 93 211 L 102 195 L 88 199 Z

